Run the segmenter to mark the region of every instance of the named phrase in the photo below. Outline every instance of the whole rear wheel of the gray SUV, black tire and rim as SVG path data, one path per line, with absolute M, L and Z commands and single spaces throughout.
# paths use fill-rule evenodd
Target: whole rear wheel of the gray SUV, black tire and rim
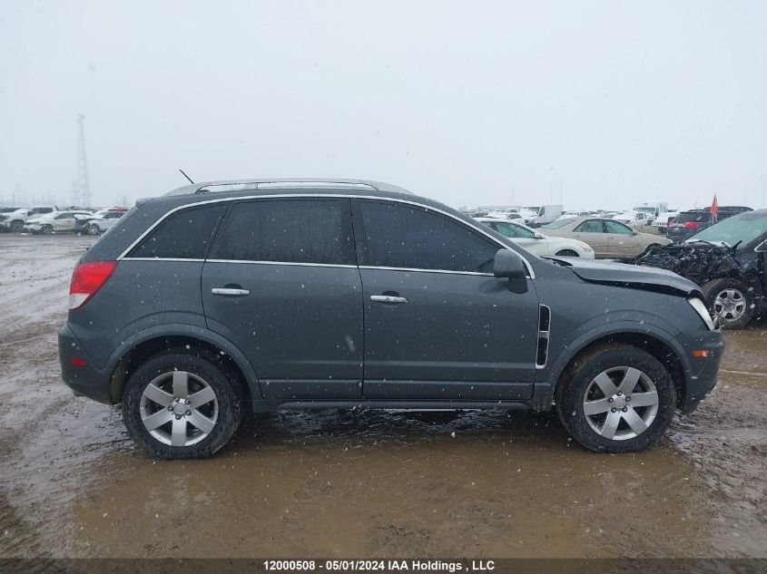
M 131 375 L 123 394 L 123 422 L 144 452 L 165 460 L 200 459 L 229 443 L 240 427 L 243 394 L 240 382 L 214 361 L 171 351 Z M 190 402 L 176 401 L 173 394 Z M 197 406 L 195 396 L 203 401 Z

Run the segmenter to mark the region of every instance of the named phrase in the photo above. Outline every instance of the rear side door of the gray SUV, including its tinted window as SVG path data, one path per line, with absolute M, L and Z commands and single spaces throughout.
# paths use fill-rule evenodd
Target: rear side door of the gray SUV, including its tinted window
M 359 397 L 362 285 L 349 199 L 234 202 L 202 269 L 202 302 L 265 398 Z

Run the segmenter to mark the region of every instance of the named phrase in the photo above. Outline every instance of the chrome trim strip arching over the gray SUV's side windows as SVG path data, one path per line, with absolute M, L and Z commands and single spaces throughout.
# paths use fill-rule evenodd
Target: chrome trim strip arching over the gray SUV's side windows
M 178 207 L 175 207 L 173 209 L 170 209 L 167 211 L 160 219 L 157 219 L 154 223 L 152 223 L 149 228 L 145 229 L 144 232 L 136 238 L 131 245 L 126 248 L 120 256 L 118 256 L 117 260 L 122 261 L 123 258 L 126 258 L 128 253 L 130 253 L 133 248 L 135 248 L 143 238 L 145 238 L 147 235 L 152 233 L 152 230 L 154 230 L 156 227 L 158 227 L 162 221 L 165 219 L 168 219 L 172 214 L 174 214 L 176 211 L 181 211 L 182 209 L 191 209 L 194 207 L 199 207 L 201 205 L 208 205 L 210 203 L 221 203 L 222 201 L 243 201 L 248 199 L 278 199 L 278 198 L 332 198 L 332 199 L 373 199 L 378 201 L 392 201 L 394 203 L 404 203 L 407 205 L 414 205 L 419 208 L 428 209 L 430 211 L 435 211 L 437 213 L 441 213 L 444 216 L 447 216 L 450 219 L 456 220 L 459 224 L 465 225 L 469 229 L 474 229 L 475 231 L 478 231 L 480 234 L 484 235 L 486 238 L 493 241 L 499 248 L 509 249 L 511 251 L 514 251 L 514 249 L 509 248 L 505 243 L 502 241 L 499 241 L 497 238 L 494 238 L 492 235 L 487 233 L 484 229 L 479 228 L 476 225 L 470 224 L 467 221 L 464 221 L 463 219 L 457 218 L 452 213 L 448 213 L 447 211 L 443 209 L 433 208 L 428 205 L 424 205 L 423 203 L 419 203 L 418 201 L 413 201 L 410 199 L 399 199 L 399 198 L 385 198 L 375 195 L 357 195 L 357 194 L 342 194 L 342 193 L 270 193 L 268 195 L 248 195 L 248 196 L 241 196 L 236 198 L 213 198 L 213 199 L 205 199 L 202 201 L 194 201 L 192 203 L 185 203 L 183 205 L 180 205 Z M 516 255 L 518 255 L 522 260 L 525 262 L 525 267 L 527 268 L 527 274 L 531 279 L 536 278 L 536 273 L 533 271 L 533 267 L 530 265 L 530 262 L 527 260 L 525 256 L 522 254 L 514 251 Z M 137 258 L 133 258 L 134 260 Z M 152 258 L 151 260 L 155 260 L 159 258 Z M 189 260 L 189 259 L 186 259 Z M 313 265 L 313 264 L 312 264 Z M 319 264 L 318 264 L 319 265 Z M 424 271 L 429 271 L 431 269 L 421 269 Z M 466 273 L 464 271 L 447 271 L 447 273 Z

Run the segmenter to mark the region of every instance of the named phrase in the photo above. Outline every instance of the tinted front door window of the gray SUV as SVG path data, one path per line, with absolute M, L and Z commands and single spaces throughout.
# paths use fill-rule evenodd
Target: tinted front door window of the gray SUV
M 492 273 L 499 246 L 427 208 L 361 201 L 363 264 Z

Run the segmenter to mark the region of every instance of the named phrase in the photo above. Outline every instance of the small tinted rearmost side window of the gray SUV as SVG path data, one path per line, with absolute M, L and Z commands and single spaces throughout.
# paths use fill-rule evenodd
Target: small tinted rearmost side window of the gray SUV
M 182 209 L 143 238 L 129 258 L 204 259 L 226 203 Z

